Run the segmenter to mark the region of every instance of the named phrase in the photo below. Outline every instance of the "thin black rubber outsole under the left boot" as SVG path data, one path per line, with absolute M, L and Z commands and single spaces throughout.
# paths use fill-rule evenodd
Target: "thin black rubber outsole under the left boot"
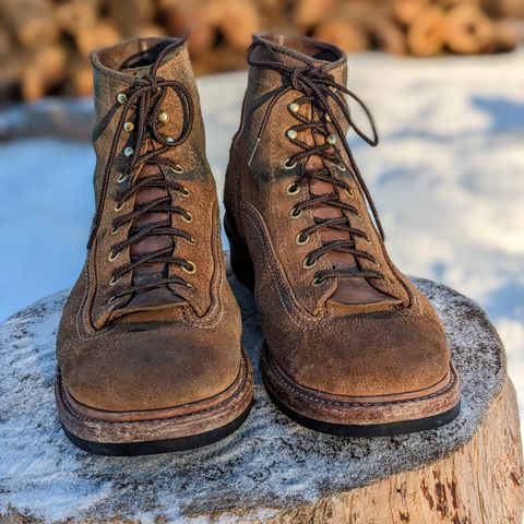
M 61 424 L 63 432 L 68 439 L 78 448 L 88 453 L 95 453 L 97 455 L 111 455 L 111 456 L 134 456 L 134 455 L 151 455 L 154 453 L 169 453 L 174 451 L 192 450 L 194 448 L 202 448 L 218 442 L 229 434 L 234 433 L 248 418 L 249 412 L 253 402 L 245 409 L 245 412 L 235 420 L 222 426 L 221 428 L 212 429 L 199 434 L 192 434 L 190 437 L 180 437 L 178 439 L 168 440 L 151 440 L 146 442 L 93 442 L 90 440 L 81 439 L 71 433 Z

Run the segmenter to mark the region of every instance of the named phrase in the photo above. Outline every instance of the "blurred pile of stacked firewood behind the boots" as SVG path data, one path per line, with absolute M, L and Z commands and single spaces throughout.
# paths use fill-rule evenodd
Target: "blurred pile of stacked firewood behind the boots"
M 511 50 L 514 19 L 524 0 L 0 0 L 0 103 L 90 95 L 90 51 L 135 36 L 189 35 L 203 74 L 243 68 L 260 31 L 429 57 Z

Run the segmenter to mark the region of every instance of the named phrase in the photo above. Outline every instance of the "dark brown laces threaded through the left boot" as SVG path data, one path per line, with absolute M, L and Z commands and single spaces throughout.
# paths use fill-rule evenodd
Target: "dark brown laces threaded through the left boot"
M 180 174 L 181 167 L 170 159 L 163 157 L 162 155 L 171 147 L 176 147 L 183 143 L 189 136 L 194 117 L 193 103 L 189 91 L 183 84 L 175 80 L 165 80 L 156 75 L 157 69 L 164 57 L 166 57 L 179 45 L 180 43 L 175 43 L 170 46 L 167 46 L 152 64 L 148 74 L 136 79 L 132 86 L 123 93 L 123 108 L 118 121 L 117 132 L 115 133 L 112 140 L 108 160 L 104 169 L 103 184 L 97 201 L 96 214 L 93 222 L 88 248 L 93 243 L 102 219 L 102 210 L 104 209 L 104 202 L 106 199 L 109 175 L 117 157 L 119 140 L 124 129 L 123 124 L 128 121 L 128 115 L 133 108 L 135 109 L 135 141 L 132 144 L 133 153 L 130 155 L 129 165 L 127 166 L 126 172 L 123 172 L 119 178 L 119 182 L 127 181 L 128 183 L 117 199 L 115 204 L 116 210 L 118 211 L 121 209 L 126 201 L 131 199 L 143 188 L 174 190 L 179 192 L 182 196 L 189 195 L 189 191 L 182 184 L 168 178 L 168 176 L 176 176 L 177 174 Z M 177 138 L 162 134 L 157 124 L 158 114 L 160 112 L 162 105 L 169 90 L 171 90 L 172 93 L 179 98 L 182 110 L 182 127 Z M 144 148 L 146 140 L 151 142 L 151 148 L 150 151 L 141 153 L 141 151 Z M 160 169 L 160 172 L 135 180 L 133 175 L 136 172 L 139 167 L 144 164 L 157 165 Z M 188 273 L 192 273 L 194 271 L 194 265 L 190 261 L 172 255 L 177 237 L 183 238 L 191 243 L 194 242 L 194 240 L 187 231 L 171 227 L 170 215 L 172 213 L 180 215 L 186 222 L 191 222 L 192 216 L 182 207 L 174 205 L 169 194 L 148 201 L 143 205 L 135 205 L 131 213 L 117 217 L 114 221 L 111 233 L 117 234 L 118 230 L 127 223 L 135 221 L 144 214 L 155 212 L 169 213 L 169 219 L 158 221 L 141 227 L 131 228 L 126 240 L 117 242 L 112 246 L 110 260 L 115 261 L 121 251 L 151 236 L 170 236 L 172 238 L 172 246 L 168 246 L 142 255 L 133 255 L 129 263 L 120 266 L 114 272 L 110 285 L 116 285 L 123 275 L 135 270 L 142 264 L 164 263 L 166 264 L 165 271 L 158 275 L 157 279 L 142 285 L 131 285 L 119 289 L 112 295 L 110 299 L 111 302 L 126 296 L 139 294 L 168 284 L 179 284 L 186 287 L 191 287 L 191 285 L 182 277 L 176 275 L 168 276 L 167 272 L 169 264 L 176 264 Z

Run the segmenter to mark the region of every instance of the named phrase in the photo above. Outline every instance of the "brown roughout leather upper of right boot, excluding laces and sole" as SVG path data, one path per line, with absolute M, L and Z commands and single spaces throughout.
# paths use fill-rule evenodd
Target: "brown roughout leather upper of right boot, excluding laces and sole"
M 333 46 L 284 35 L 254 38 L 264 46 L 251 52 L 264 59 L 296 67 L 314 63 L 338 83 L 346 83 L 346 57 Z M 296 242 L 297 235 L 313 225 L 315 210 L 290 216 L 293 207 L 313 192 L 302 186 L 289 194 L 287 188 L 297 180 L 300 166 L 295 170 L 284 167 L 286 158 L 298 151 L 286 139 L 286 131 L 297 124 L 288 105 L 303 93 L 291 90 L 276 103 L 252 154 L 260 121 L 286 81 L 279 72 L 250 68 L 225 187 L 231 258 L 252 261 L 255 300 L 270 354 L 296 383 L 329 394 L 374 396 L 428 389 L 450 370 L 442 324 L 429 301 L 391 262 L 350 169 L 325 164 L 333 177 L 350 187 L 347 193 L 327 184 L 329 191 L 337 191 L 343 202 L 356 207 L 358 216 L 344 211 L 345 216 L 369 241 L 357 236 L 354 240 L 378 264 L 337 253 L 336 258 L 320 257 L 314 267 L 303 267 L 308 253 L 325 241 L 315 233 L 307 243 Z M 346 131 L 347 124 L 341 124 Z M 345 153 L 341 154 L 347 162 Z M 350 284 L 327 278 L 312 284 L 317 271 L 334 264 L 357 265 L 362 271 L 379 267 L 384 278 L 354 278 L 362 282 Z

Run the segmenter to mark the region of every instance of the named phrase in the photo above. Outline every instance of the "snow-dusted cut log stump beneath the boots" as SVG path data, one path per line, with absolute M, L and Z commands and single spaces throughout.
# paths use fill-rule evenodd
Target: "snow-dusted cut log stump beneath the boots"
M 229 279 L 257 369 L 254 302 Z M 66 439 L 55 412 L 55 337 L 67 293 L 11 317 L 0 326 L 0 522 L 520 524 L 519 415 L 499 336 L 466 297 L 415 283 L 443 320 L 462 412 L 440 429 L 391 438 L 297 426 L 269 401 L 257 370 L 253 410 L 226 440 L 164 455 L 90 455 Z

